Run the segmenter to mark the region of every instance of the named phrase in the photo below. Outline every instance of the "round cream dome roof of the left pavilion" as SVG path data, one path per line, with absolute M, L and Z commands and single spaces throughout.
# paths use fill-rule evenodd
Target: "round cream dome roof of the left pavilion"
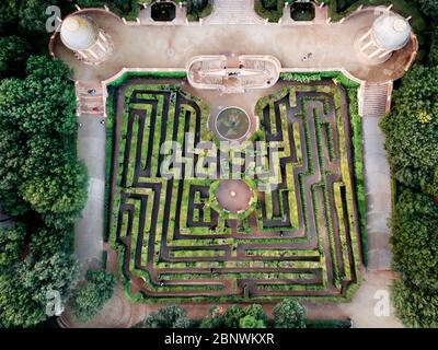
M 82 15 L 70 15 L 62 21 L 61 40 L 72 50 L 85 50 L 97 40 L 99 31 L 94 22 Z

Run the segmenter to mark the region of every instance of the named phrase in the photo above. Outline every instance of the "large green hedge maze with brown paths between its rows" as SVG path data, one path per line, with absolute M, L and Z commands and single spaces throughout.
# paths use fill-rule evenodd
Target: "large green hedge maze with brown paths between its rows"
M 160 147 L 166 141 L 183 145 L 177 160 L 184 165 L 177 170 L 183 177 L 206 159 L 216 161 L 204 168 L 206 174 L 221 177 L 231 163 L 244 173 L 243 153 L 224 164 L 222 151 L 214 147 L 205 154 L 187 147 L 215 140 L 201 101 L 166 81 L 128 81 L 115 90 L 108 230 L 131 294 L 327 299 L 345 298 L 358 283 L 359 228 L 346 94 L 332 82 L 285 86 L 257 103 L 261 127 L 249 142 L 254 150 L 256 141 L 277 149 L 278 184 L 261 190 L 257 176 L 244 178 L 256 201 L 243 214 L 217 206 L 220 178 L 162 174 L 166 153 L 160 154 Z

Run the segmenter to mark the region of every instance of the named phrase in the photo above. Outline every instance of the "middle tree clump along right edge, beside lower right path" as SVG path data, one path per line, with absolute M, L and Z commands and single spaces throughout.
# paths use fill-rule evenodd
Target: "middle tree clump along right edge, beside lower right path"
M 405 189 L 392 218 L 396 270 L 416 288 L 438 288 L 438 206 L 426 195 Z

